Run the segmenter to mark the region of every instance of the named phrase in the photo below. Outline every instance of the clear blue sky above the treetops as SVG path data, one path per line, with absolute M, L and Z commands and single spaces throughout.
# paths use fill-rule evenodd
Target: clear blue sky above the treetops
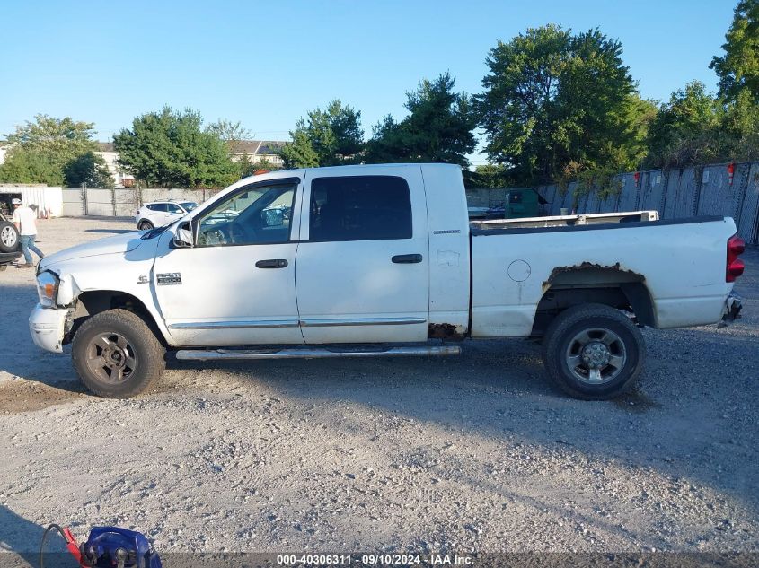
M 368 137 L 384 115 L 405 115 L 405 93 L 423 78 L 448 71 L 456 90 L 480 92 L 490 48 L 550 22 L 619 39 L 642 96 L 667 100 L 694 79 L 716 89 L 709 64 L 736 4 L 3 0 L 0 138 L 45 113 L 94 122 L 110 141 L 168 104 L 283 140 L 336 98 L 361 111 Z

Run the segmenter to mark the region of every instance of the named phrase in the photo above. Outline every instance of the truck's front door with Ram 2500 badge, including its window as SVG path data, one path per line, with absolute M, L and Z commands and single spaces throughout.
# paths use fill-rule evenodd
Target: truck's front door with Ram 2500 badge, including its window
M 195 245 L 159 244 L 153 285 L 178 345 L 302 344 L 296 304 L 300 179 L 235 189 L 192 220 Z

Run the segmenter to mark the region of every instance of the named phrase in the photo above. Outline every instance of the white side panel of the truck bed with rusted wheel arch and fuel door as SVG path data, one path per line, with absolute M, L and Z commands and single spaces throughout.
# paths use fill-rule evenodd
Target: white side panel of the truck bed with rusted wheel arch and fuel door
M 583 263 L 642 276 L 657 328 L 719 320 L 733 287 L 725 282 L 725 243 L 735 234 L 732 220 L 604 227 L 475 233 L 472 336 L 529 335 L 552 272 Z

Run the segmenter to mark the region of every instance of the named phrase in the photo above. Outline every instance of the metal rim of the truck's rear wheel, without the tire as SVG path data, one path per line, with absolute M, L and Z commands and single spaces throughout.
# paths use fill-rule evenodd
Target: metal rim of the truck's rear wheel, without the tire
M 622 337 L 611 329 L 588 328 L 569 341 L 566 363 L 572 375 L 589 385 L 616 379 L 627 363 Z

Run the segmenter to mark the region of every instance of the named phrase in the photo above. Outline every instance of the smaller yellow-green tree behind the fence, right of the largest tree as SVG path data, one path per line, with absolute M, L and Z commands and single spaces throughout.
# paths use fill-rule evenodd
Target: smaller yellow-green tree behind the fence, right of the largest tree
M 693 81 L 673 92 L 649 127 L 647 168 L 681 168 L 719 160 L 725 153 L 724 109 Z

